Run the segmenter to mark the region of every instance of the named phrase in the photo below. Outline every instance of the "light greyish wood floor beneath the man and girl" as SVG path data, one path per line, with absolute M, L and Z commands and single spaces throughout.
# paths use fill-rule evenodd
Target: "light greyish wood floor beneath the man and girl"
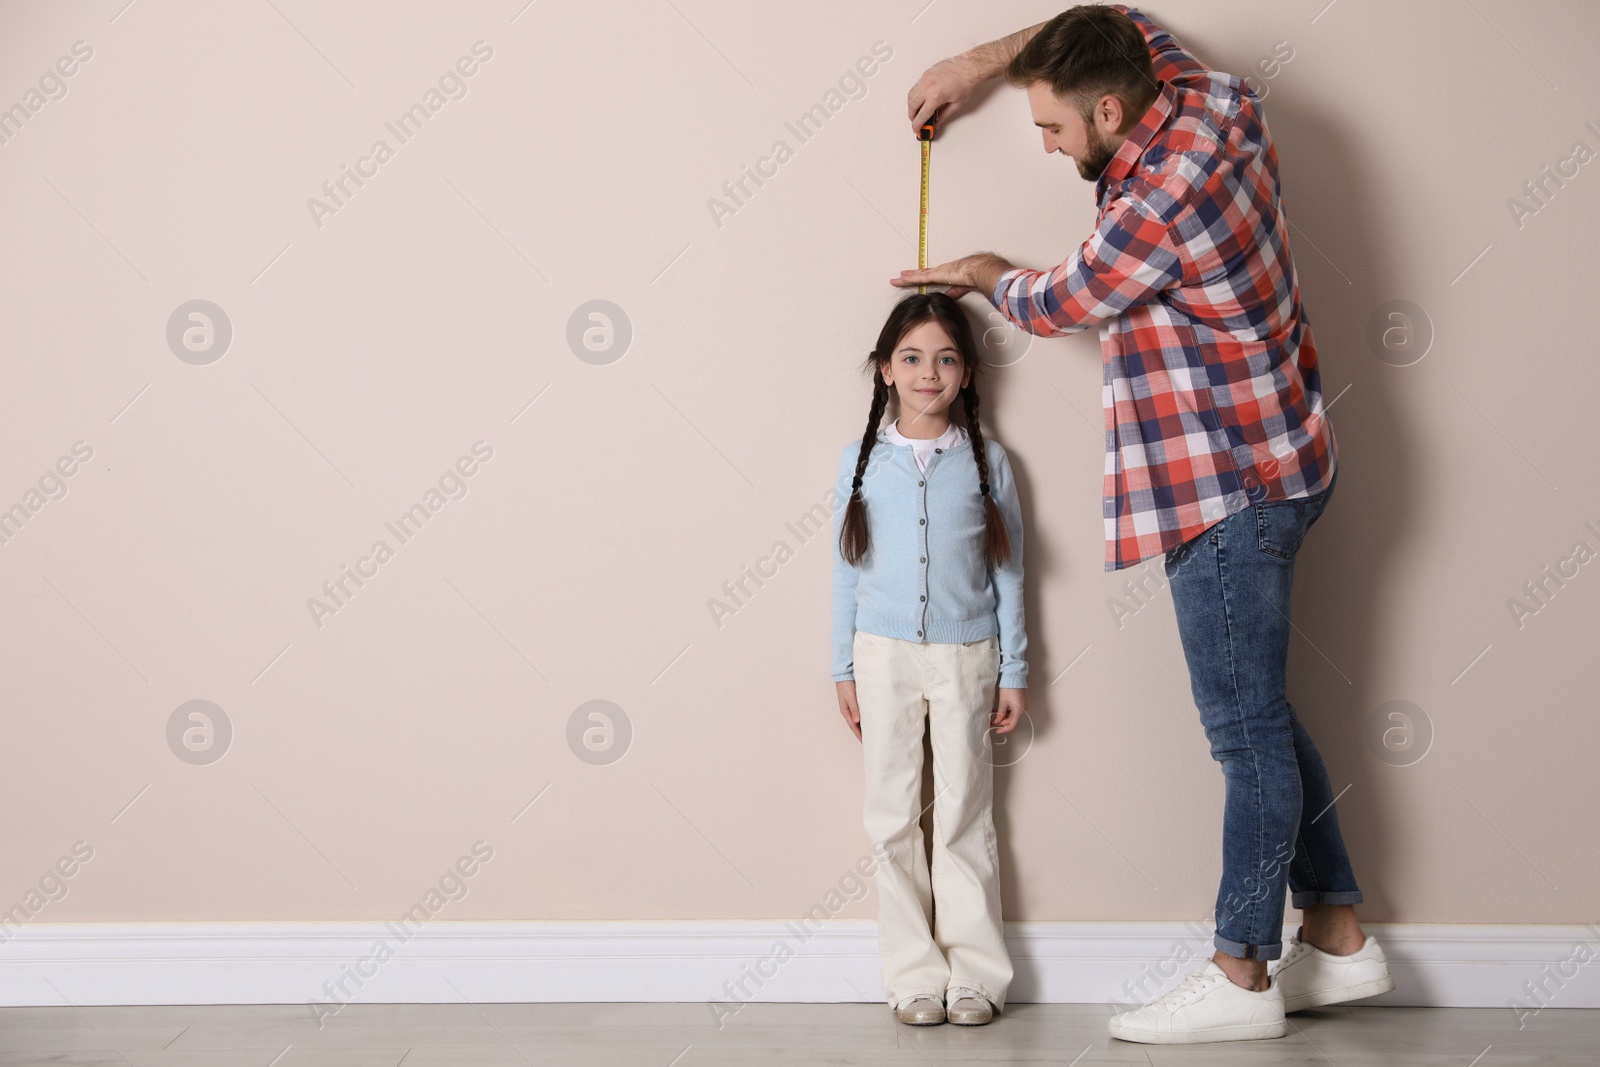
M 883 1005 L 293 1005 L 0 1008 L 0 1067 L 694 1067 L 738 1064 L 1600 1064 L 1600 1009 L 1323 1008 L 1272 1041 L 1160 1046 L 1106 1035 L 1099 1005 L 1013 1005 L 986 1027 L 906 1027 Z

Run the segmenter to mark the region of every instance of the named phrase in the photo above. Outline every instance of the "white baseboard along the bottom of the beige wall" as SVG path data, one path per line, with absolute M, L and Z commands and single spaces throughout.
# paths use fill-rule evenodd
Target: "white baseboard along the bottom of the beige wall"
M 1600 1006 L 1600 928 L 1368 925 L 1395 990 L 1366 1005 Z M 5 931 L 0 929 L 0 934 Z M 1288 931 L 1285 931 L 1288 933 Z M 1120 1008 L 1210 955 L 1200 923 L 1008 923 L 1011 1003 Z M 1525 985 L 1530 982 L 1531 985 Z M 342 989 L 341 989 L 342 984 Z M 1541 992 L 1533 993 L 1534 987 Z M 0 942 L 0 1005 L 864 1001 L 877 926 L 829 921 L 32 923 Z M 320 1009 L 312 1005 L 322 1005 Z

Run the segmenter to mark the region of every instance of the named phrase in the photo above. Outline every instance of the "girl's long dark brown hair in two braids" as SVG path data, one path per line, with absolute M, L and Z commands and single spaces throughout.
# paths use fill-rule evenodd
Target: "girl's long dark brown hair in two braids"
M 861 496 L 861 482 L 867 462 L 872 459 L 872 446 L 878 438 L 878 422 L 883 419 L 890 395 L 894 392 L 894 387 L 883 381 L 883 368 L 894 358 L 901 338 L 930 320 L 936 320 L 944 333 L 950 334 L 957 352 L 962 354 L 962 365 L 973 371 L 957 394 L 957 400 L 962 402 L 962 411 L 966 416 L 966 435 L 973 442 L 973 461 L 978 464 L 978 493 L 984 498 L 984 563 L 994 569 L 1011 560 L 1011 539 L 1006 536 L 1005 518 L 995 506 L 994 494 L 989 493 L 989 453 L 978 424 L 978 370 L 982 366 L 982 360 L 978 357 L 971 323 L 966 322 L 962 306 L 950 294 L 912 293 L 890 312 L 878 333 L 877 347 L 867 354 L 861 365 L 862 371 L 872 376 L 872 406 L 867 411 L 867 429 L 861 435 L 861 453 L 856 456 L 856 477 L 851 482 L 850 504 L 845 506 L 845 522 L 838 530 L 838 552 L 851 566 L 859 566 L 872 547 L 867 530 L 867 502 Z M 955 408 L 954 403 L 950 406 Z

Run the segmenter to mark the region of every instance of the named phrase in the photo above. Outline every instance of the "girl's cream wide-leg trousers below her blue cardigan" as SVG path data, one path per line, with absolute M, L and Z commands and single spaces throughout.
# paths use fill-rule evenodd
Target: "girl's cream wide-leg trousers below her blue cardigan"
M 906 641 L 856 630 L 856 699 L 866 763 L 864 822 L 878 867 L 878 952 L 893 1006 L 976 989 L 1005 1008 L 1011 957 L 1000 923 L 989 712 L 1000 638 Z M 933 865 L 920 825 L 922 733 L 933 747 Z M 938 905 L 934 907 L 934 902 Z

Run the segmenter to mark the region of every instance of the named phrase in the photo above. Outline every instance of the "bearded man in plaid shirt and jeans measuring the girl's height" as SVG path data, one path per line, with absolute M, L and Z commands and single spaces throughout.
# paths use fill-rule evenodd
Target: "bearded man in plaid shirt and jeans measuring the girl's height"
M 930 67 L 912 130 L 1005 74 L 1045 150 L 1094 182 L 1094 234 L 1054 270 L 979 253 L 894 285 L 978 291 L 1040 336 L 1099 325 L 1106 569 L 1165 557 L 1227 782 L 1216 953 L 1114 1016 L 1130 1041 L 1272 1038 L 1285 1011 L 1394 989 L 1365 936 L 1333 790 L 1285 699 L 1290 585 L 1336 450 L 1261 102 L 1123 5 L 1077 6 Z M 1285 950 L 1283 891 L 1302 912 Z M 1267 961 L 1280 960 L 1269 976 Z

